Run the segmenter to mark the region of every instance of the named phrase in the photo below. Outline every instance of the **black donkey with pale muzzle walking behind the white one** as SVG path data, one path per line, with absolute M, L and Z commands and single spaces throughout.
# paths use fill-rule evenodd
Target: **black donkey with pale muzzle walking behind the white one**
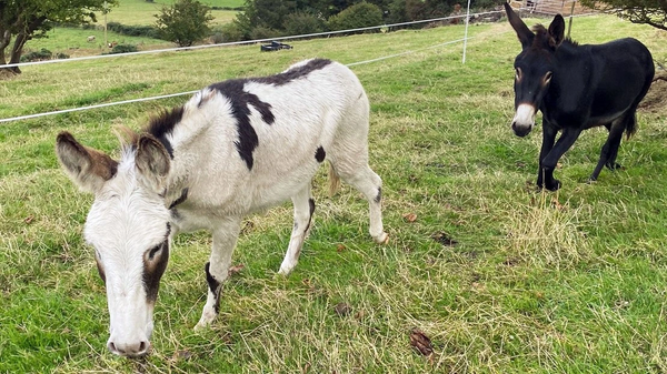
M 600 160 L 590 175 L 597 180 L 603 166 L 616 163 L 623 133 L 637 130 L 635 112 L 650 87 L 655 68 L 650 52 L 639 41 L 626 38 L 605 44 L 578 46 L 564 38 L 565 20 L 557 14 L 545 29 L 530 31 L 508 3 L 509 23 L 521 42 L 515 59 L 515 109 L 511 129 L 526 137 L 542 112 L 542 145 L 537 185 L 556 191 L 558 160 L 581 131 L 604 125 L 609 131 Z M 558 131 L 563 134 L 554 145 Z

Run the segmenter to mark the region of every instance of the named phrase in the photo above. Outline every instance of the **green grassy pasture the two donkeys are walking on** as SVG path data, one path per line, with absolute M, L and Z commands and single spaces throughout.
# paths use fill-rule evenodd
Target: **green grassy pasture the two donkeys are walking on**
M 535 21 L 535 20 L 532 20 Z M 548 22 L 545 20 L 545 22 Z M 528 21 L 528 23 L 534 23 Z M 112 127 L 139 129 L 187 97 L 0 123 L 0 373 L 665 373 L 667 109 L 638 114 L 625 169 L 585 183 L 606 138 L 585 132 L 558 193 L 536 191 L 540 129 L 516 138 L 506 22 L 24 67 L 0 84 L 0 118 L 181 92 L 321 57 L 352 67 L 371 101 L 370 164 L 382 176 L 386 245 L 367 204 L 313 181 L 300 263 L 277 274 L 291 205 L 246 220 L 220 316 L 195 332 L 210 236 L 181 234 L 156 306 L 153 352 L 106 348 L 108 312 L 81 239 L 92 196 L 59 170 L 59 131 L 118 156 Z M 603 31 L 604 30 L 604 31 Z M 667 36 L 615 17 L 575 19 L 581 43 L 633 36 L 658 60 Z M 659 97 L 658 97 L 659 98 Z M 338 309 L 337 309 L 338 306 Z M 342 306 L 342 307 L 341 307 Z M 338 310 L 338 312 L 337 312 Z M 418 328 L 432 342 L 410 345 Z

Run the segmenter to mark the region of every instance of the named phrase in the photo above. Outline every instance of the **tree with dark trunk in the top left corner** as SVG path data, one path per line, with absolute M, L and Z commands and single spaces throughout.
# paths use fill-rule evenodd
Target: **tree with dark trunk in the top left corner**
M 117 0 L 108 0 L 116 6 Z M 104 11 L 104 0 L 0 0 L 0 68 L 18 63 L 26 42 L 43 38 L 54 23 L 81 24 L 94 22 L 96 11 Z M 20 73 L 18 67 L 2 70 Z

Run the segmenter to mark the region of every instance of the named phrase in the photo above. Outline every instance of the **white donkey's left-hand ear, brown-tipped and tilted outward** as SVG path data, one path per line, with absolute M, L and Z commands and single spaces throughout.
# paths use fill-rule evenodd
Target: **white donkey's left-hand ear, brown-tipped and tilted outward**
M 56 138 L 56 154 L 72 182 L 87 192 L 100 191 L 118 170 L 118 162 L 98 150 L 81 145 L 66 131 Z

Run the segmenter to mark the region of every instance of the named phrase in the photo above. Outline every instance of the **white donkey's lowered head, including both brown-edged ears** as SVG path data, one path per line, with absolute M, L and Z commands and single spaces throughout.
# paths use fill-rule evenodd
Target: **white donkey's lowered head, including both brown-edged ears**
M 160 277 L 169 260 L 170 212 L 165 205 L 169 155 L 151 135 L 126 145 L 117 163 L 63 132 L 58 155 L 69 176 L 96 195 L 86 221 L 86 241 L 96 249 L 107 286 L 109 350 L 146 354 Z

